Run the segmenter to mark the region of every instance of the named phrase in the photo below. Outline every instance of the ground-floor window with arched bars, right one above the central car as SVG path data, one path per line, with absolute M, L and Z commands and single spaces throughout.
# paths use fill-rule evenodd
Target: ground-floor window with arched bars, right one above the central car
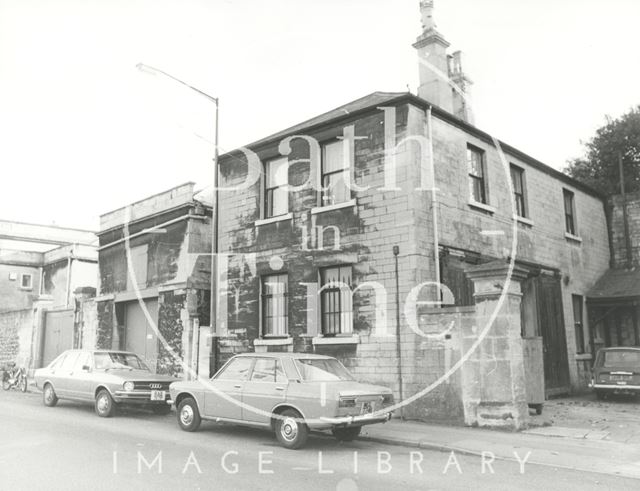
M 353 303 L 351 297 L 351 266 L 320 270 L 320 315 L 322 334 L 351 334 L 353 332 Z

